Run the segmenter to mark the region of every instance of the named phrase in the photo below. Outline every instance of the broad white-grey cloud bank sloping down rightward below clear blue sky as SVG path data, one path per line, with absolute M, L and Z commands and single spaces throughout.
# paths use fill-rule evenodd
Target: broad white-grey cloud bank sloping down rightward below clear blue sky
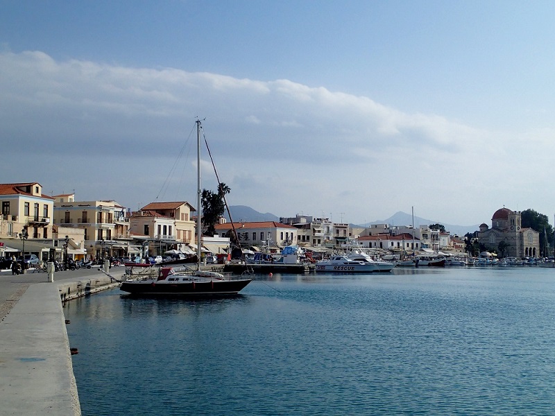
M 196 116 L 207 119 L 232 204 L 278 215 L 341 211 L 362 222 L 420 205 L 420 216 L 480 223 L 515 191 L 515 171 L 521 184 L 537 183 L 555 151 L 552 129 L 489 132 L 291 80 L 56 61 L 40 51 L 1 52 L 0 90 L 5 181 L 71 181 L 86 194 L 102 172 L 126 178 L 110 185 L 125 200 L 110 198 L 133 208 L 154 198 L 154 180 L 167 175 Z M 24 173 L 14 162 L 22 158 Z M 147 184 L 134 189 L 145 171 Z M 485 196 L 491 207 L 477 206 Z

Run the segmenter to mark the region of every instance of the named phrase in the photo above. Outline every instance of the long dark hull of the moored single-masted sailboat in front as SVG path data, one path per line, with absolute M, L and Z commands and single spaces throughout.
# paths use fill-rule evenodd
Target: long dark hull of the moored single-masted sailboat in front
M 252 279 L 206 281 L 123 281 L 121 291 L 135 296 L 228 296 L 237 295 Z

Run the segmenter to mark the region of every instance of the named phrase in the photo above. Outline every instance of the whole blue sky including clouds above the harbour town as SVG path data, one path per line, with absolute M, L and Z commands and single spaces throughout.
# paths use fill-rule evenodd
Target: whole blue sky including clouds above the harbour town
M 196 207 L 552 222 L 553 1 L 0 1 L 0 182 Z M 216 189 L 205 150 L 203 188 Z

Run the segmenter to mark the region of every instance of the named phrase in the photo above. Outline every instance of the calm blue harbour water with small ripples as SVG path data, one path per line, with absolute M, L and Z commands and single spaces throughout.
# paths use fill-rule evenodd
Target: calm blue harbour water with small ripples
M 555 413 L 555 270 L 257 277 L 65 307 L 83 415 Z

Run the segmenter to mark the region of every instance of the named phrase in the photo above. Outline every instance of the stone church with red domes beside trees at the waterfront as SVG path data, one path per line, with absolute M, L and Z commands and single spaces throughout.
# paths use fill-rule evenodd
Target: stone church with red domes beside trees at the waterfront
M 506 257 L 538 257 L 540 255 L 540 233 L 531 228 L 522 228 L 520 211 L 505 207 L 497 209 L 491 218 L 491 228 L 480 225 L 478 241 L 487 250 L 497 250 L 504 241 Z

